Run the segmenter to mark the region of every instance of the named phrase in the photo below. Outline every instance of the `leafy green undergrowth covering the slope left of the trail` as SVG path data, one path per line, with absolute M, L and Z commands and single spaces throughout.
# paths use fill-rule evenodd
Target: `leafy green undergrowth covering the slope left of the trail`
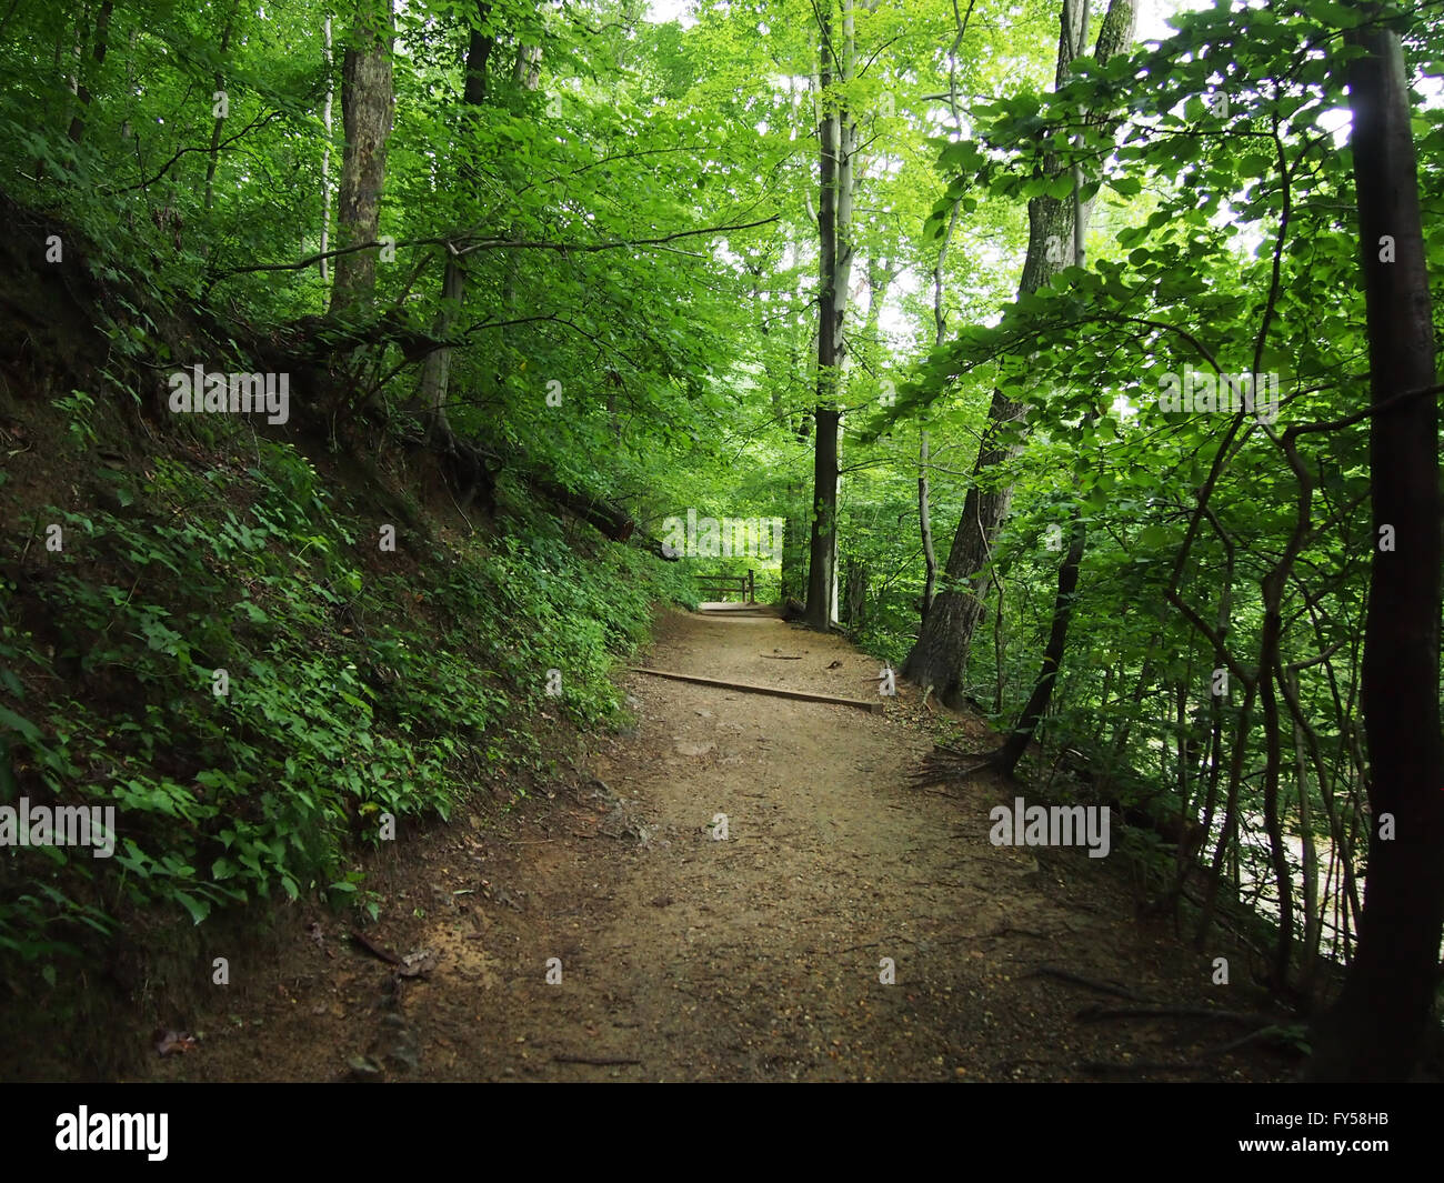
M 214 909 L 329 893 L 357 900 L 380 819 L 448 818 L 478 780 L 540 768 L 520 721 L 547 667 L 575 724 L 617 718 L 611 662 L 647 633 L 673 571 L 619 545 L 591 559 L 557 533 L 375 547 L 293 451 L 245 471 L 160 458 L 124 514 L 48 510 L 55 578 L 0 627 L 6 797 L 116 809 L 114 857 L 38 846 L 12 864 L 0 946 L 105 932 L 120 909 Z M 371 536 L 367 536 L 371 534 Z M 362 542 L 365 537 L 365 542 Z M 423 586 L 425 591 L 416 591 Z M 215 689 L 225 672 L 225 693 Z M 74 688 L 26 708 L 26 688 Z M 53 861 L 55 884 L 36 880 Z

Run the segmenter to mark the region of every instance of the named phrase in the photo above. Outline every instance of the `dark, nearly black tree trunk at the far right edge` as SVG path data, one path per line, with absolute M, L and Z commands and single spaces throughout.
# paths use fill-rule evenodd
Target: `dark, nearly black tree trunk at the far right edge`
M 1366 53 L 1347 69 L 1369 386 L 1373 406 L 1396 402 L 1373 415 L 1369 430 L 1369 877 L 1359 950 L 1339 1001 L 1315 1028 L 1305 1076 L 1398 1080 L 1414 1069 L 1430 1023 L 1444 926 L 1438 403 L 1404 53 L 1398 36 L 1376 23 L 1378 6 L 1356 7 L 1367 22 L 1349 33 Z M 1408 391 L 1421 393 L 1401 397 Z M 1383 527 L 1396 540 L 1389 549 L 1379 546 Z

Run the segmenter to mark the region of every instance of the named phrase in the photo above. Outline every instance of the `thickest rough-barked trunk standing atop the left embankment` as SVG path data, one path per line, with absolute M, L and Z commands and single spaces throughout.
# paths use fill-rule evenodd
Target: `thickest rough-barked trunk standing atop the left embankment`
M 381 224 L 386 147 L 396 95 L 391 85 L 391 0 L 357 0 L 355 25 L 341 64 L 341 123 L 347 133 L 336 195 L 342 248 L 375 241 Z M 336 256 L 331 312 L 364 309 L 375 290 L 375 251 Z

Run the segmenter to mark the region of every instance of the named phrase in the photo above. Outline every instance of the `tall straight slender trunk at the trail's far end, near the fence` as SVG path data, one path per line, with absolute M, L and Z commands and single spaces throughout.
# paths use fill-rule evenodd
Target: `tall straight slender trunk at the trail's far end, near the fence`
M 813 517 L 807 563 L 807 614 L 813 628 L 826 630 L 836 617 L 838 569 L 838 396 L 845 347 L 842 322 L 852 277 L 852 189 L 856 129 L 840 100 L 829 94 L 836 65 L 839 85 L 852 81 L 856 43 L 853 0 L 842 0 L 840 45 L 832 29 L 832 0 L 817 9 L 819 23 L 819 202 L 822 246 L 817 293 L 817 412 L 813 433 Z

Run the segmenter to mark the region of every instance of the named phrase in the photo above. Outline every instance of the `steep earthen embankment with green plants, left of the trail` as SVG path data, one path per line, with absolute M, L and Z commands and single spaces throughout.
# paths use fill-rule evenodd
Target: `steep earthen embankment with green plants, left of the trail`
M 339 413 L 344 358 L 303 331 L 175 313 L 4 214 L 0 796 L 114 849 L 9 839 L 0 1078 L 131 1073 L 157 1024 L 244 1002 L 290 904 L 381 916 L 368 851 L 621 725 L 612 659 L 689 592 L 520 478 L 464 511 L 442 461 Z M 284 423 L 169 413 L 172 373 L 292 348 Z

